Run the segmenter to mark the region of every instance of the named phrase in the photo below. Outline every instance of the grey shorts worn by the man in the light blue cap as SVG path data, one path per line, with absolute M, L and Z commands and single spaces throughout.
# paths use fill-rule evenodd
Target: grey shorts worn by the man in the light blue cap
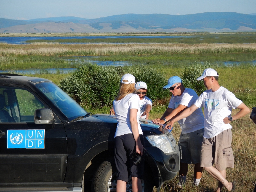
M 199 129 L 197 131 L 180 134 L 178 141 L 178 146 L 182 151 L 181 163 L 196 164 L 200 162 L 201 146 L 203 141 L 204 129 Z

